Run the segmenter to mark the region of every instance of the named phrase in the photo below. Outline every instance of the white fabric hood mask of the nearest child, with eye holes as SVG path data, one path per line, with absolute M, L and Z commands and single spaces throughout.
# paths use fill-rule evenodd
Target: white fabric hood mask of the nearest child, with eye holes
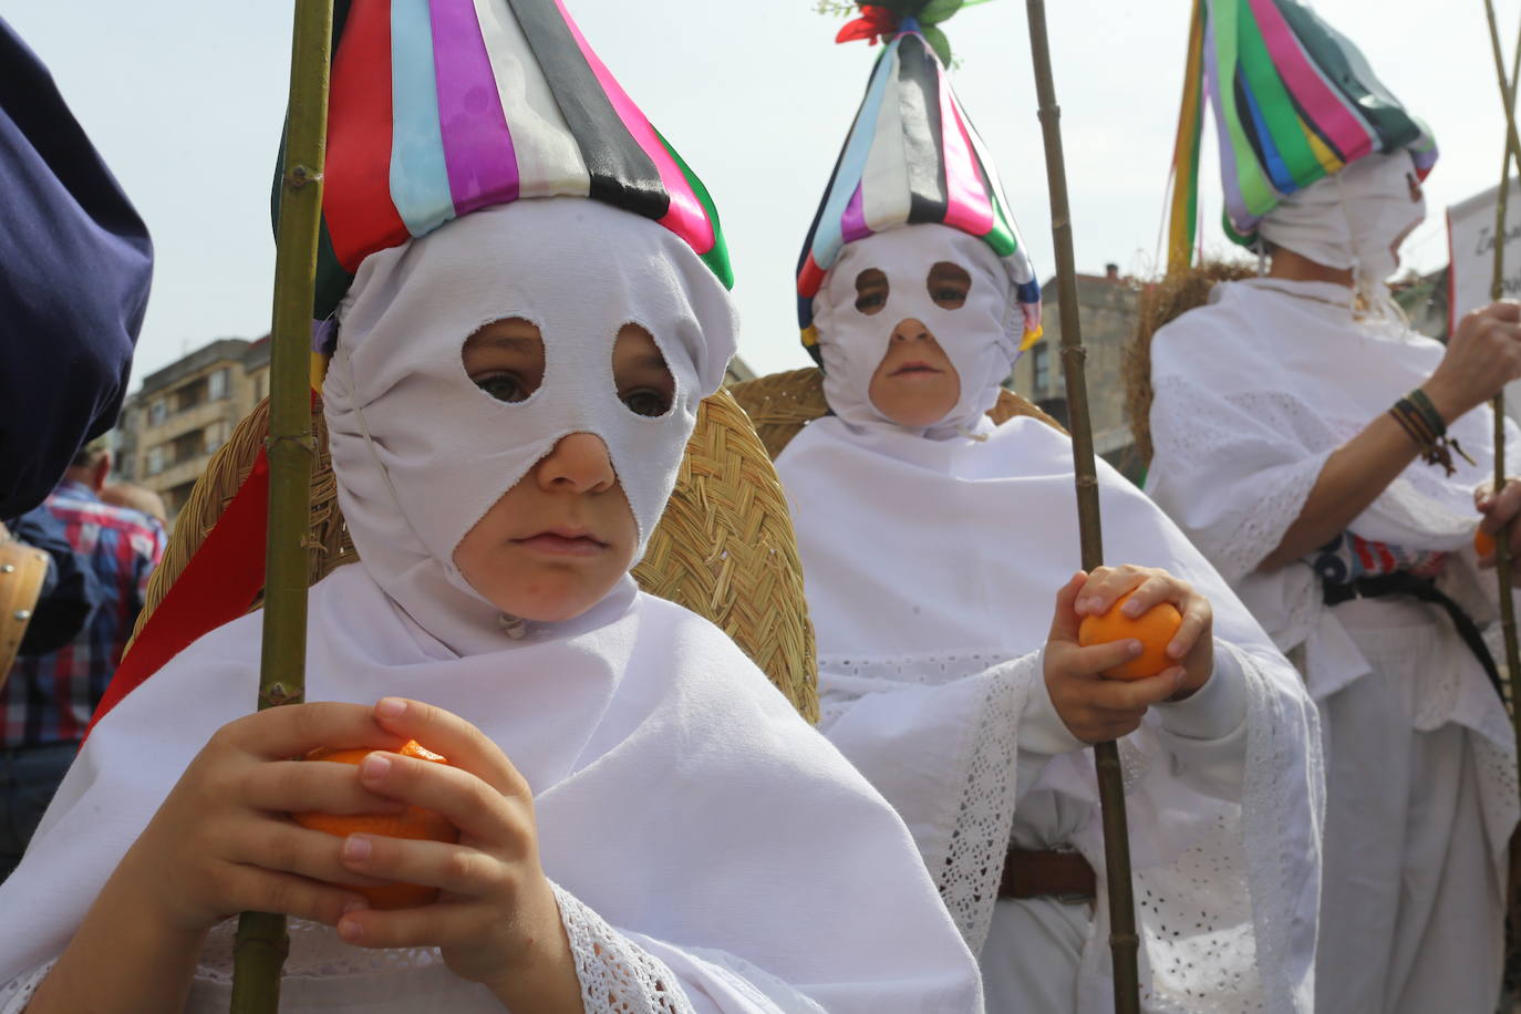
M 470 334 L 506 318 L 534 322 L 545 342 L 543 383 L 519 403 L 476 388 L 461 359 Z M 354 547 L 386 594 L 461 655 L 499 649 L 520 625 L 461 575 L 459 540 L 563 436 L 595 433 L 633 508 L 637 559 L 736 328 L 729 293 L 675 234 L 576 198 L 476 211 L 370 255 L 339 319 L 322 395 Z M 618 398 L 613 344 L 630 322 L 675 379 L 659 418 Z

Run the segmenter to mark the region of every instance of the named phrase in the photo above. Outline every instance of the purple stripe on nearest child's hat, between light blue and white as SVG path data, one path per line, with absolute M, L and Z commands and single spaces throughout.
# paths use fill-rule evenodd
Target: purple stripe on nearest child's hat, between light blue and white
M 438 122 L 455 214 L 517 199 L 517 155 L 473 0 L 429 0 Z

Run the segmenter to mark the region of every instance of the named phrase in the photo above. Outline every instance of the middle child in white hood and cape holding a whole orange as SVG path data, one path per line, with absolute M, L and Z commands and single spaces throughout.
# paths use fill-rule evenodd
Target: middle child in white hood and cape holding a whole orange
M 868 103 L 926 53 L 900 26 Z M 945 135 L 966 119 L 943 71 L 932 81 Z M 847 239 L 830 242 L 832 208 L 846 207 L 834 195 L 859 187 L 862 207 L 894 207 L 893 181 L 914 178 L 891 172 L 913 151 L 884 128 L 910 103 L 896 111 L 858 116 L 809 237 L 805 341 L 832 415 L 777 458 L 818 637 L 821 728 L 913 830 L 980 955 L 989 1009 L 1112 1009 L 1083 746 L 1122 737 L 1144 1008 L 1307 1011 L 1319 871 L 1308 699 L 1209 564 L 1103 462 L 1104 553 L 1122 566 L 1074 575 L 1066 436 L 984 415 L 1034 330 L 1033 271 L 1018 242 L 1011 254 L 961 225 L 973 202 L 957 205 L 967 189 L 951 154 L 940 220 L 882 216 L 867 234 L 846 220 Z M 986 160 L 976 167 L 992 179 Z M 1002 196 L 983 185 L 1001 217 Z M 1127 614 L 1170 602 L 1185 617 L 1164 672 L 1136 681 L 1106 678 L 1135 642 L 1077 643 L 1080 620 L 1124 593 Z

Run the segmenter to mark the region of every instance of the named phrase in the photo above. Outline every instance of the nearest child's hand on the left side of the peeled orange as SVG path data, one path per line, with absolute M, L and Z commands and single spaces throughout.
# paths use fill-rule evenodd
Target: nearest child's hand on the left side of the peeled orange
M 186 768 L 122 859 L 113 886 L 187 938 L 242 911 L 336 926 L 344 911 L 365 903 L 336 885 L 376 880 L 344 865 L 339 839 L 286 813 L 405 807 L 360 786 L 347 765 L 291 757 L 316 746 L 395 749 L 403 742 L 360 704 L 292 704 L 230 722 Z

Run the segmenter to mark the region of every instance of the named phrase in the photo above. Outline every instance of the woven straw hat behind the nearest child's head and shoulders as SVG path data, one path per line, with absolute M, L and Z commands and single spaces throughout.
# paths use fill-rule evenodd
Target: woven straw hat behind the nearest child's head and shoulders
M 327 426 L 312 415 L 318 459 L 312 473 L 309 582 L 359 559 L 338 509 Z M 199 549 L 254 467 L 269 429 L 260 403 L 196 482 L 148 587 L 137 631 Z M 703 401 L 675 493 L 634 569 L 640 587 L 704 616 L 754 660 L 809 722 L 818 721 L 814 628 L 803 570 L 776 470 L 744 410 L 727 392 Z M 135 632 L 134 631 L 134 635 Z M 254 689 L 249 687 L 249 701 Z

